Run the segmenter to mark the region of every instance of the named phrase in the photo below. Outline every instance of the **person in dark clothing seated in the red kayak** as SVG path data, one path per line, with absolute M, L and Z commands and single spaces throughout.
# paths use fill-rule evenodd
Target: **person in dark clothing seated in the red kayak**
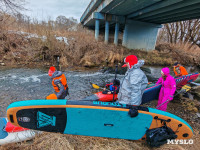
M 113 94 L 115 92 L 115 94 L 118 94 L 119 88 L 120 88 L 120 81 L 117 79 L 114 79 L 111 83 L 106 84 L 102 93 L 103 94 Z

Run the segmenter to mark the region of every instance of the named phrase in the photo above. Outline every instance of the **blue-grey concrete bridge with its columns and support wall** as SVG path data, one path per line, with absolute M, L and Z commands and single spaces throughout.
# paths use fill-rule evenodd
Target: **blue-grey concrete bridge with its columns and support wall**
M 91 0 L 80 22 L 95 29 L 105 29 L 105 43 L 109 31 L 114 31 L 118 45 L 119 31 L 122 45 L 130 49 L 153 50 L 161 24 L 200 18 L 200 0 Z

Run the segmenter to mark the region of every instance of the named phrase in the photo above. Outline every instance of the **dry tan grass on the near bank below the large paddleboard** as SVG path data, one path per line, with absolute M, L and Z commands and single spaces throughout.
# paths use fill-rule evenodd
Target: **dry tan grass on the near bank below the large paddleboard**
M 59 133 L 43 133 L 33 141 L 15 143 L 1 146 L 2 150 L 198 150 L 200 134 L 194 130 L 192 145 L 163 145 L 160 148 L 150 148 L 145 141 L 129 141 L 122 139 L 109 139 L 100 137 L 87 137 L 76 135 L 63 135 Z

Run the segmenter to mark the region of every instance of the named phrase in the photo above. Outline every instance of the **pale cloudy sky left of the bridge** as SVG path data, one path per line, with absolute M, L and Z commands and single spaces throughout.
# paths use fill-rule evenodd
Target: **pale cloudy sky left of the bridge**
M 26 0 L 24 15 L 38 20 L 55 20 L 62 15 L 73 17 L 80 22 L 80 17 L 91 0 Z

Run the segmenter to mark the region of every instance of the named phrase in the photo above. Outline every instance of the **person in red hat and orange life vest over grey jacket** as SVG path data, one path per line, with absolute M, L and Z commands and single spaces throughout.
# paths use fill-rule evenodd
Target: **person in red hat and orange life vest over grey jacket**
M 65 97 L 69 95 L 67 79 L 65 75 L 61 71 L 56 71 L 56 68 L 53 66 L 50 67 L 48 75 L 52 79 L 52 85 L 57 99 L 65 99 Z

